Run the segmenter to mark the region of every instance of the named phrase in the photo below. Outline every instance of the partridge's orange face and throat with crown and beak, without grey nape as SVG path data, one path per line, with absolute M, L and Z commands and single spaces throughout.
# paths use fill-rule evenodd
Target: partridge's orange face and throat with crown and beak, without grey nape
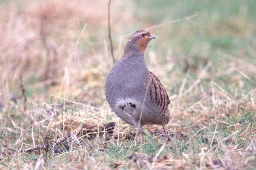
M 157 36 L 151 34 L 147 30 L 140 30 L 137 33 L 134 33 L 134 35 L 132 35 L 130 39 L 137 39 L 138 47 L 140 51 L 144 54 L 147 50 L 148 42 L 153 38 L 157 38 Z

